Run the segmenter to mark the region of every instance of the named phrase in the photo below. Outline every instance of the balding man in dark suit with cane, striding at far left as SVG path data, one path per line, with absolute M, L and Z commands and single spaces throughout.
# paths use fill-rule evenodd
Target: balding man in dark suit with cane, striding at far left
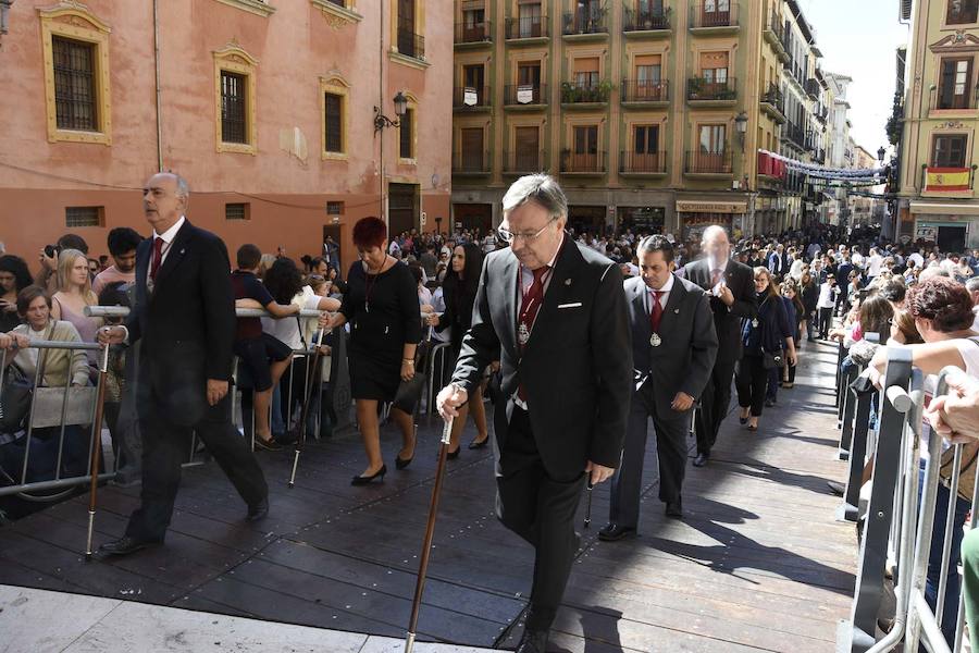
M 187 221 L 188 200 L 176 174 L 147 182 L 142 204 L 153 237 L 136 249 L 136 306 L 125 326 L 99 332 L 103 343 L 141 342 L 136 410 L 144 441 L 141 505 L 102 555 L 163 542 L 191 431 L 248 504 L 247 519 L 269 512 L 262 469 L 231 422 L 235 301 L 227 249 Z

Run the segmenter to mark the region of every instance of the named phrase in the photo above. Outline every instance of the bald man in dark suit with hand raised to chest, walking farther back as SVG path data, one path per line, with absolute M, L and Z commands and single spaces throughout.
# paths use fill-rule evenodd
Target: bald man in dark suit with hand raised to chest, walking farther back
M 697 457 L 694 467 L 707 465 L 717 432 L 731 403 L 734 364 L 741 358 L 741 320 L 753 320 L 758 313 L 755 278 L 752 269 L 731 260 L 728 232 L 718 225 L 704 230 L 701 250 L 705 257 L 683 268 L 683 276 L 710 296 L 714 325 L 717 330 L 717 359 L 710 381 L 701 395 L 697 411 Z

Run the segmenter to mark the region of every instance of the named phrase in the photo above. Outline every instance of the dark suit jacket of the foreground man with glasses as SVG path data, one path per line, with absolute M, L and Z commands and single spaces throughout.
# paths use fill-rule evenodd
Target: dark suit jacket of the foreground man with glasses
M 486 257 L 472 328 L 453 381 L 472 394 L 498 355 L 501 394 L 526 393 L 537 451 L 552 478 L 575 479 L 592 460 L 617 467 L 632 396 L 632 344 L 618 266 L 565 234 L 544 304 L 521 354 L 517 344 L 520 262 L 507 248 Z M 507 407 L 496 407 L 497 460 Z

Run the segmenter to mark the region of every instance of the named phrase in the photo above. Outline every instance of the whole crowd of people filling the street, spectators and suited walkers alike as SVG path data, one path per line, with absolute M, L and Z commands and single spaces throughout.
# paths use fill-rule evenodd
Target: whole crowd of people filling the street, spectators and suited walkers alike
M 186 182 L 154 175 L 144 190 L 151 238 L 114 229 L 109 258 L 91 258 L 84 239 L 66 234 L 38 252 L 34 274 L 24 258 L 0 256 L 5 383 L 95 383 L 95 352 L 39 354 L 33 342 L 111 347 L 106 415 L 117 482 L 141 482 L 142 505 L 125 535 L 103 545 L 104 555 L 162 543 L 186 453 L 177 434 L 196 432 L 245 498 L 247 518 L 263 518 L 268 488 L 245 442 L 276 452 L 308 428 L 296 419 L 303 399 L 286 389 L 309 379 L 319 384 L 323 377 L 308 354 L 322 343 L 329 355 L 337 337 L 348 338 L 364 447 L 364 468 L 350 480 L 358 486 L 383 482 L 388 472 L 383 416 L 401 436 L 396 470 L 416 457 L 413 414 L 424 387 L 417 370 L 434 344 L 447 343 L 437 408 L 455 420 L 448 458 L 461 455 L 471 416 L 476 435 L 467 448 L 494 444 L 499 517 L 537 552 L 528 633 L 518 649 L 528 653 L 546 646 L 577 547 L 571 518 L 583 484 L 611 480 L 599 537 L 634 535 L 652 419 L 659 498 L 667 516 L 682 518 L 692 422 L 693 465 L 704 467 L 732 384 L 740 423 L 759 430 L 764 409 L 794 386 L 804 341 L 845 341 L 844 365 L 878 374 L 883 355 L 873 347 L 921 343 L 915 365 L 925 372 L 946 365 L 965 371 L 954 392 L 929 408 L 937 432 L 979 436 L 979 250 L 941 252 L 933 244 L 882 243 L 873 233 L 821 224 L 736 239 L 712 225 L 685 242 L 632 229 L 579 232 L 567 223 L 557 183 L 530 175 L 507 193 L 495 231 L 388 237 L 383 220 L 361 219 L 352 230 L 358 259 L 343 270 L 332 241 L 322 256 L 299 261 L 281 250 L 263 254 L 258 244 L 232 259 L 220 238 L 187 221 L 188 204 Z M 132 310 L 120 322 L 86 315 L 95 305 Z M 267 317 L 236 318 L 235 308 L 264 309 Z M 300 317 L 303 309 L 322 315 Z M 233 427 L 233 379 L 248 439 Z M 569 391 L 577 393 L 571 406 L 563 401 Z M 495 406 L 492 430 L 484 397 Z M 23 417 L 0 427 L 23 431 Z M 16 432 L 0 443 L 9 482 L 25 446 Z M 84 447 L 74 448 L 82 455 Z M 32 453 L 35 459 L 27 480 L 50 478 L 44 457 Z M 968 503 L 957 501 L 966 502 L 956 512 L 964 521 Z M 966 564 L 979 569 L 975 557 Z M 966 574 L 967 590 L 976 578 L 979 570 Z M 957 584 L 947 591 L 957 593 Z

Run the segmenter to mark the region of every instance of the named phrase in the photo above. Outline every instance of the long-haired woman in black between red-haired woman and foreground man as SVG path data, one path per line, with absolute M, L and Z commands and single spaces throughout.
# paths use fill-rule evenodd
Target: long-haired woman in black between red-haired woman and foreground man
M 445 312 L 441 316 L 433 315 L 429 318 L 429 325 L 436 331 L 443 331 L 447 326 L 453 328 L 451 360 L 459 357 L 462 348 L 462 336 L 472 326 L 472 305 L 475 303 L 476 289 L 480 287 L 480 274 L 483 270 L 483 252 L 471 243 L 456 245 L 453 250 L 451 272 L 446 274 L 442 284 L 445 298 Z M 449 367 L 455 369 L 456 364 Z M 490 432 L 486 430 L 486 409 L 483 406 L 483 387 L 476 387 L 472 396 L 459 408 L 459 416 L 453 422 L 453 440 L 449 445 L 448 457 L 459 457 L 459 434 L 466 427 L 468 412 L 472 412 L 472 421 L 475 423 L 476 438 L 469 443 L 469 448 L 483 448 L 490 441 Z

